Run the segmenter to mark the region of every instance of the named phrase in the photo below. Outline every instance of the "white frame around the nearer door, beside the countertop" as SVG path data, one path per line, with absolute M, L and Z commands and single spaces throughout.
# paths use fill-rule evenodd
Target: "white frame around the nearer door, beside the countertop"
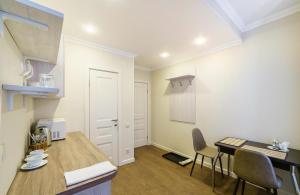
M 85 130 L 84 134 L 85 136 L 90 140 L 90 71 L 95 70 L 95 71 L 102 71 L 102 72 L 110 72 L 110 73 L 116 73 L 118 74 L 118 129 L 117 129 L 117 148 L 118 148 L 118 154 L 117 154 L 117 166 L 120 164 L 120 154 L 122 152 L 121 150 L 121 144 L 120 144 L 120 132 L 121 132 L 121 127 L 123 124 L 123 119 L 122 119 L 122 89 L 121 89 L 121 84 L 122 84 L 122 73 L 120 69 L 117 68 L 112 68 L 109 66 L 97 66 L 93 67 L 90 66 L 86 68 L 85 70 L 85 84 L 84 84 L 84 99 L 85 99 L 85 104 L 84 104 L 84 112 L 85 112 Z

